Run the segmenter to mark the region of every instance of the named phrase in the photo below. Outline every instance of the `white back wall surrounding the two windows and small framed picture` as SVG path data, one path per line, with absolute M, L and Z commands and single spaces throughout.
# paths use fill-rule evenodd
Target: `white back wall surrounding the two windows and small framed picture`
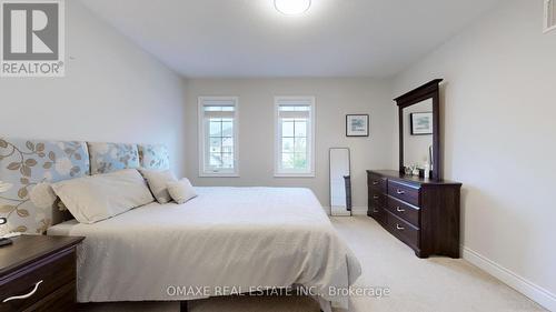
M 187 80 L 187 173 L 197 185 L 306 187 L 329 207 L 328 150 L 351 149 L 354 207 L 366 211 L 366 169 L 388 168 L 394 124 L 389 81 L 371 79 Z M 239 97 L 240 178 L 198 177 L 197 98 Z M 316 178 L 274 178 L 274 97 L 316 97 Z M 370 114 L 369 138 L 346 138 L 346 114 Z

